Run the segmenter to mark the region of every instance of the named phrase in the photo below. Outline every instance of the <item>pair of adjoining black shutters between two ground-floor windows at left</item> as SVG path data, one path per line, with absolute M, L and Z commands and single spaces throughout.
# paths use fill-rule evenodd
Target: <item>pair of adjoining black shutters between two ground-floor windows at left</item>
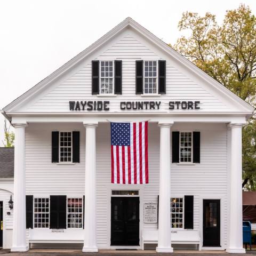
M 66 229 L 67 197 L 50 196 L 50 229 Z

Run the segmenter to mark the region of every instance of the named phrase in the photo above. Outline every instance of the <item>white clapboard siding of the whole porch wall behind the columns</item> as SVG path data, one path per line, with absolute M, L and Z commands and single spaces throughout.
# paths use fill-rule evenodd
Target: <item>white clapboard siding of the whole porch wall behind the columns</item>
M 51 127 L 52 126 L 52 127 Z M 85 128 L 82 124 L 29 124 L 26 128 L 26 192 L 36 195 L 84 194 Z M 58 165 L 51 163 L 51 131 L 80 131 L 80 163 Z M 227 132 L 224 124 L 174 124 L 172 130 L 201 132 L 201 163 L 171 164 L 172 196 L 194 195 L 194 229 L 202 226 L 202 198 L 218 195 L 223 200 L 223 243 L 226 243 L 227 218 Z M 97 243 L 108 246 L 108 204 L 111 181 L 110 126 L 97 128 Z M 159 127 L 149 124 L 149 184 L 141 186 L 140 203 L 157 202 L 159 194 Z M 70 182 L 71 181 L 71 182 Z M 129 186 L 129 189 L 132 189 Z M 140 220 L 143 223 L 143 219 Z M 157 229 L 157 224 L 142 228 Z

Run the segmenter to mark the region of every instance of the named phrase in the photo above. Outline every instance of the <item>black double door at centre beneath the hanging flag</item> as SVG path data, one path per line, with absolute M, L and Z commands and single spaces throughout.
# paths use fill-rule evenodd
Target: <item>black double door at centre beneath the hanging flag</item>
M 139 245 L 139 197 L 111 197 L 111 245 Z

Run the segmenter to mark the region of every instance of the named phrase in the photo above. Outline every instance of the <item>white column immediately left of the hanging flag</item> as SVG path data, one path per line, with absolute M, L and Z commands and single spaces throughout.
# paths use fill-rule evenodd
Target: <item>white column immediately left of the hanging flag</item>
M 96 127 L 84 124 L 85 139 L 85 211 L 83 252 L 98 252 L 96 242 Z

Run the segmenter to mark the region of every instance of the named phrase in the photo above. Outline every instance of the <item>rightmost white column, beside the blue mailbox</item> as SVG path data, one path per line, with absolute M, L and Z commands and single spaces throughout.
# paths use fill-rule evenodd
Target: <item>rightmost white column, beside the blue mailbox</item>
M 242 203 L 242 124 L 228 127 L 228 237 L 229 253 L 245 253 L 243 249 Z

